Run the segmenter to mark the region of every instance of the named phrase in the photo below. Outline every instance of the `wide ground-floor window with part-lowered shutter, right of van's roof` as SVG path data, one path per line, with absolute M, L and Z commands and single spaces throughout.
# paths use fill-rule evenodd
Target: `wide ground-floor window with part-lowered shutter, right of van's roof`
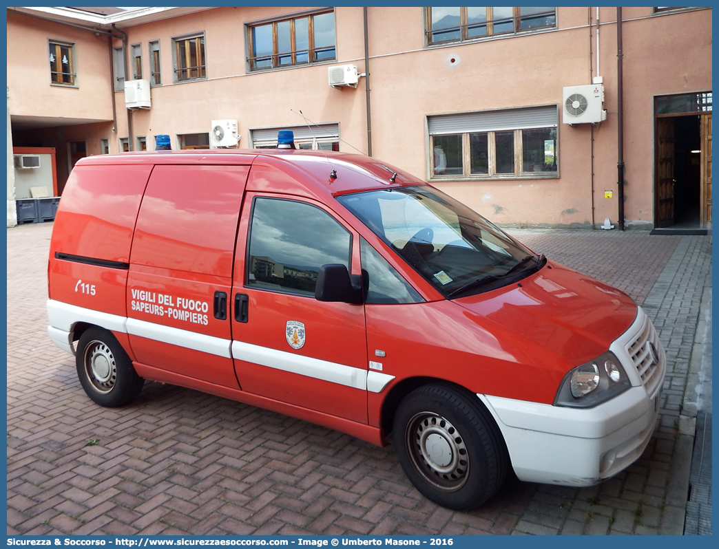
M 429 116 L 430 177 L 557 177 L 557 120 L 557 106 Z

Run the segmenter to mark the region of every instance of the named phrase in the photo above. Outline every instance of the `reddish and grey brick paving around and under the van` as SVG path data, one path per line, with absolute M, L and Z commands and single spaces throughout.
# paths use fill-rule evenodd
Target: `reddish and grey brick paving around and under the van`
M 513 481 L 452 512 L 413 489 L 391 448 L 291 417 L 157 383 L 127 407 L 94 405 L 45 331 L 51 230 L 7 233 L 9 534 L 682 533 L 693 440 L 682 395 L 707 237 L 512 231 L 644 303 L 669 354 L 661 424 L 601 486 Z

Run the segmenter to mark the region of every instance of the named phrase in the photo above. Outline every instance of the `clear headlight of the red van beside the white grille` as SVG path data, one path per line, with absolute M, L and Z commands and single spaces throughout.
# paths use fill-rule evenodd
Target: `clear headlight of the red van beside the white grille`
M 610 351 L 569 370 L 559 385 L 555 406 L 589 408 L 609 400 L 631 387 L 616 356 Z

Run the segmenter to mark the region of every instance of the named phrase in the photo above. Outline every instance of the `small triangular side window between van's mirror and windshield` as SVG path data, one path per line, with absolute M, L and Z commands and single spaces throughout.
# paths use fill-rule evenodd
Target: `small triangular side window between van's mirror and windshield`
M 421 295 L 404 280 L 369 242 L 359 239 L 365 303 L 423 303 Z

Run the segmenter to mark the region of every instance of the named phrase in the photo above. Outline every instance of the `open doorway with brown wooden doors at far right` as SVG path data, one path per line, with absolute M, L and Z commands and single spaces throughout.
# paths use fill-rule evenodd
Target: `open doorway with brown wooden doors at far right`
M 711 228 L 711 93 L 664 96 L 655 104 L 655 230 L 706 234 Z

